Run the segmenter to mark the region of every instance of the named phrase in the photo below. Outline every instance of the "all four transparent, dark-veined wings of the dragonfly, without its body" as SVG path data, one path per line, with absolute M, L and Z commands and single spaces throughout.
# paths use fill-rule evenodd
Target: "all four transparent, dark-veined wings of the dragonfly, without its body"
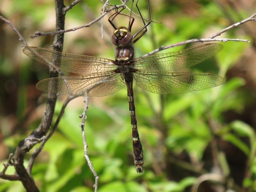
M 44 79 L 36 88 L 45 92 L 77 96 L 105 96 L 125 86 L 118 65 L 131 65 L 130 73 L 142 89 L 158 94 L 184 93 L 209 89 L 225 82 L 221 76 L 207 73 L 174 73 L 196 65 L 222 49 L 220 44 L 203 44 L 178 52 L 169 52 L 132 61 L 108 60 L 100 57 L 51 51 L 40 47 L 25 47 L 23 52 L 34 60 L 67 72 L 84 74 Z M 58 60 L 55 67 L 53 60 Z M 58 63 L 57 62 L 57 63 Z M 118 72 L 117 72 L 118 71 Z

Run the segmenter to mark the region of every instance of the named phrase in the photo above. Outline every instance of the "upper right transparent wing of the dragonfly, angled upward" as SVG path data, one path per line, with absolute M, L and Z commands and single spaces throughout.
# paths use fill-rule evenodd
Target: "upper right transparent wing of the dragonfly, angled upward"
M 196 65 L 220 52 L 222 48 L 222 45 L 212 43 L 183 51 L 139 57 L 132 61 L 133 68 L 148 71 L 175 71 Z

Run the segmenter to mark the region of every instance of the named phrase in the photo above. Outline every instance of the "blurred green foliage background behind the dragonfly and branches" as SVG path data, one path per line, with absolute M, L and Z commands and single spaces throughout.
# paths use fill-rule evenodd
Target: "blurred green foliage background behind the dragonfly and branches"
M 65 4 L 71 2 L 66 0 Z M 228 2 L 151 1 L 152 19 L 162 24 L 151 23 L 147 34 L 135 44 L 136 57 L 161 45 L 206 38 L 247 18 L 255 10 L 253 0 L 242 5 Z M 109 3 L 120 4 L 111 0 Z M 139 3 L 147 18 L 146 1 Z M 100 14 L 102 5 L 100 1 L 77 4 L 66 14 L 66 28 L 90 22 Z M 127 5 L 131 6 L 131 2 Z M 52 44 L 52 36 L 30 39 L 29 35 L 37 30 L 54 30 L 53 1 L 4 0 L 0 2 L 0 14 L 13 22 L 29 45 L 48 48 Z M 113 59 L 114 46 L 110 41 L 113 28 L 107 19 L 104 19 L 103 39 L 100 39 L 98 22 L 90 28 L 66 33 L 63 52 Z M 127 19 L 116 18 L 115 23 L 126 26 Z M 140 26 L 141 20 L 136 17 L 133 30 Z M 226 185 L 207 181 L 200 187 L 201 191 L 256 190 L 255 34 L 250 33 L 250 25 L 246 26 L 234 28 L 221 37 L 249 39 L 252 43 L 220 43 L 224 46 L 220 53 L 191 68 L 195 72 L 225 76 L 225 84 L 177 95 L 156 95 L 134 85 L 138 129 L 144 150 L 142 174 L 135 171 L 133 164 L 126 89 L 103 98 L 90 98 L 85 133 L 89 157 L 100 177 L 99 192 L 190 191 L 206 173 L 222 175 Z M 18 37 L 3 22 L 0 22 L 0 33 L 2 170 L 8 154 L 13 153 L 18 142 L 40 123 L 46 94 L 37 91 L 35 84 L 48 77 L 48 68 L 22 55 Z M 171 51 L 190 46 L 175 47 Z M 53 123 L 64 100 L 64 96 L 59 97 Z M 81 119 L 78 117 L 82 111 L 83 98 L 69 103 L 58 129 L 36 158 L 32 175 L 41 191 L 93 190 L 94 177 L 83 157 Z M 25 165 L 33 150 L 28 153 Z M 6 173 L 14 173 L 13 167 Z M 24 191 L 24 188 L 19 181 L 0 180 L 0 191 Z

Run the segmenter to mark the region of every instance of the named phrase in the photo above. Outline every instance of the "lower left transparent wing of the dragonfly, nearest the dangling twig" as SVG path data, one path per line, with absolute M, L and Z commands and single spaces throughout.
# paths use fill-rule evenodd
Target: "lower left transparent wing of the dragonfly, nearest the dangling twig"
M 76 96 L 105 96 L 124 88 L 120 73 L 56 77 L 39 81 L 36 88 L 45 92 Z

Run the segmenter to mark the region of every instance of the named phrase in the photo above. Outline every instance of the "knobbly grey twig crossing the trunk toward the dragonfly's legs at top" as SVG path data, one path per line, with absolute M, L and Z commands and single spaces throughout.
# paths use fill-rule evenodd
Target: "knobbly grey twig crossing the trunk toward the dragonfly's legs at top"
M 70 28 L 70 29 L 66 29 L 66 30 L 59 30 L 59 31 L 51 31 L 51 32 L 40 32 L 40 31 L 36 31 L 35 35 L 31 35 L 31 38 L 35 38 L 38 36 L 45 36 L 45 35 L 56 35 L 56 34 L 60 34 L 60 33 L 66 33 L 69 31 L 76 31 L 77 29 L 81 29 L 81 28 L 85 28 L 85 27 L 90 27 L 93 23 L 99 21 L 101 18 L 103 18 L 106 14 L 108 14 L 108 12 L 114 10 L 114 9 L 118 9 L 120 7 L 124 7 L 124 5 L 126 4 L 128 0 L 124 0 L 124 3 L 120 4 L 120 5 L 116 5 L 115 7 L 111 7 L 110 9 L 106 9 L 105 12 L 103 14 L 101 14 L 98 18 L 96 18 L 95 20 L 85 24 L 85 25 L 81 25 L 75 28 Z

